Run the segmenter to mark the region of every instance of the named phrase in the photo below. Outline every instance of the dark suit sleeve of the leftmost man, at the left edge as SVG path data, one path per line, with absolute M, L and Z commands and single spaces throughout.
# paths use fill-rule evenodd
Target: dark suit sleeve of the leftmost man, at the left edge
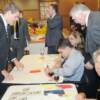
M 7 64 L 7 54 L 8 54 L 7 37 L 8 35 L 5 31 L 4 25 L 3 23 L 0 22 L 0 71 L 3 70 Z

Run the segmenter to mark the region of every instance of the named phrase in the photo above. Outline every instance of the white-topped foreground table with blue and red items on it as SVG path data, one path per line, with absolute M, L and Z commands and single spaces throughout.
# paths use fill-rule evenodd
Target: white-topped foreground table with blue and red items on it
M 74 84 L 10 86 L 1 100 L 76 100 Z

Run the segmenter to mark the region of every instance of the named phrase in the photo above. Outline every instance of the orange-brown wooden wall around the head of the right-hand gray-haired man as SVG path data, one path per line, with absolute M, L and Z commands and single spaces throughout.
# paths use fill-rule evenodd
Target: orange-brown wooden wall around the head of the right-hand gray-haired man
M 76 2 L 85 3 L 92 10 L 97 10 L 97 0 L 59 0 L 59 11 L 63 16 L 64 27 L 69 28 L 69 11 Z

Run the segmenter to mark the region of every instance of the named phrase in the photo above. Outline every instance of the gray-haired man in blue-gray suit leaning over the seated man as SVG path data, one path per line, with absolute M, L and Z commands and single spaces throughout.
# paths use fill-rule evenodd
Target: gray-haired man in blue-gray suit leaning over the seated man
M 84 4 L 77 4 L 72 7 L 70 16 L 76 23 L 86 25 L 85 51 L 92 55 L 100 47 L 100 12 L 93 12 Z

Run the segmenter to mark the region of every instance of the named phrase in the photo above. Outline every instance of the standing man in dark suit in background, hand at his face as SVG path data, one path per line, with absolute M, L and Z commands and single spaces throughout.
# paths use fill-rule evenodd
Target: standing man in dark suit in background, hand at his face
M 56 54 L 59 40 L 63 38 L 63 22 L 61 16 L 58 14 L 57 4 L 51 4 L 48 7 L 47 14 L 48 19 L 45 45 L 48 47 L 48 54 Z

